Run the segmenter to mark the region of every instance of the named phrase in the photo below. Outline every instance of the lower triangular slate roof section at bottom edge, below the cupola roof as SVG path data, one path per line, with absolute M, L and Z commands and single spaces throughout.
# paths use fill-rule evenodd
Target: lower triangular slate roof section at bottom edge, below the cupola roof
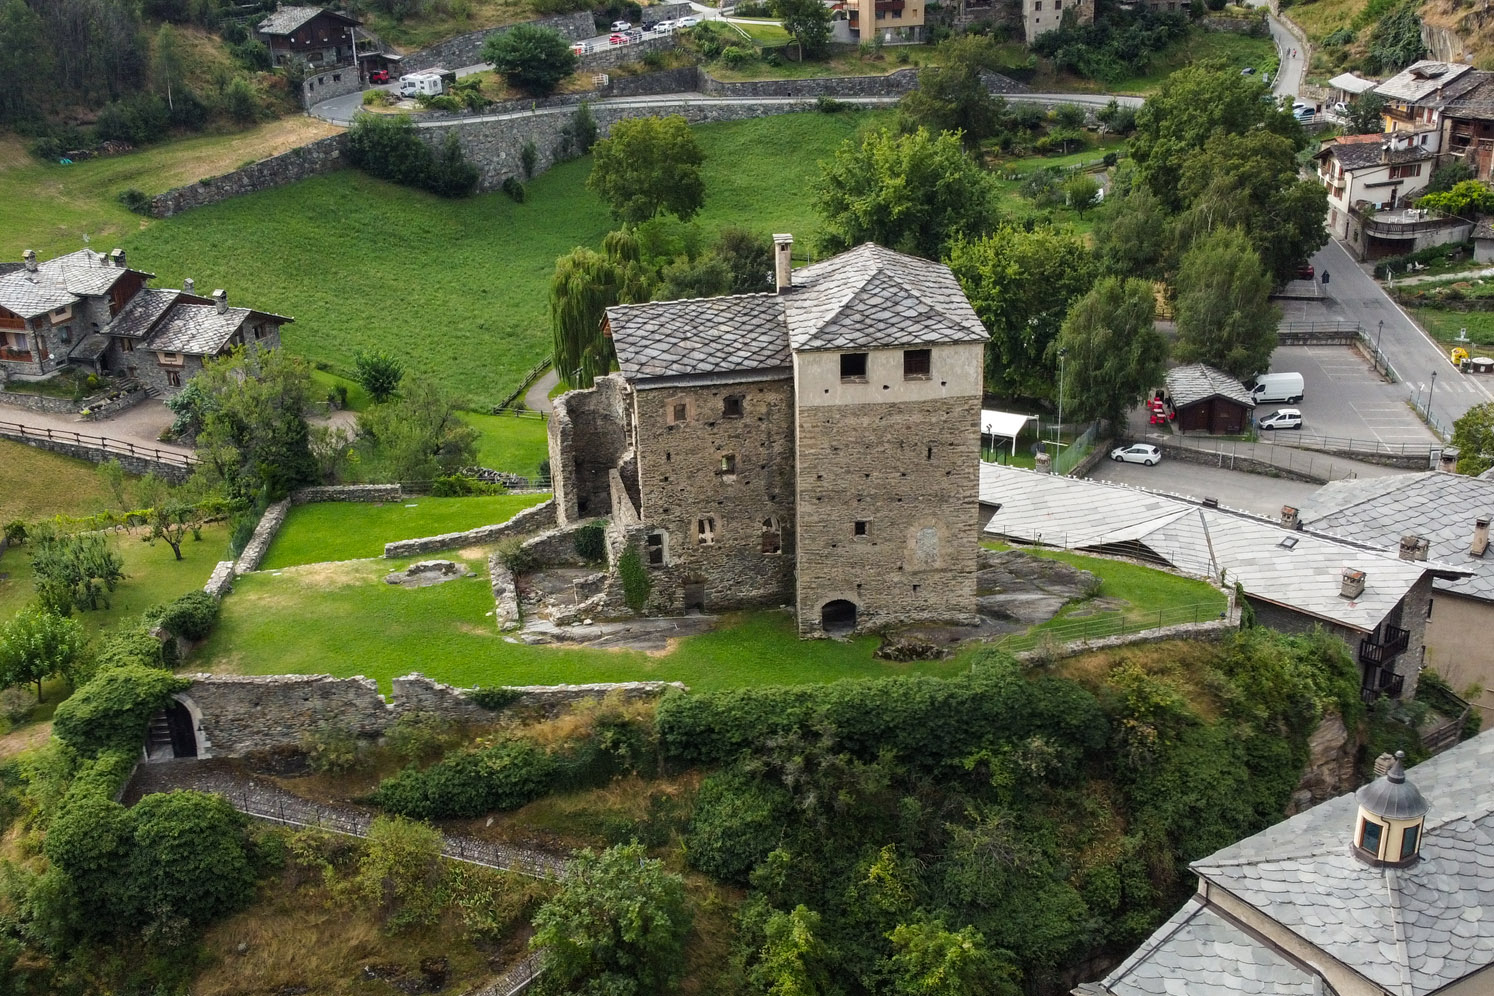
M 1312 972 L 1262 945 L 1197 897 L 1158 927 L 1103 984 L 1115 996 L 1321 996 Z

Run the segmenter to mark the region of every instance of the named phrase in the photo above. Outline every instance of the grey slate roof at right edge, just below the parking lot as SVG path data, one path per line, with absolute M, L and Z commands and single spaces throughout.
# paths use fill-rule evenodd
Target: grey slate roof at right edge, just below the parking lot
M 1494 600 L 1494 553 L 1469 553 L 1473 520 L 1488 514 L 1494 514 L 1494 479 L 1442 470 L 1334 481 L 1298 508 L 1303 526 L 1386 553 L 1398 553 L 1406 533 L 1422 536 L 1431 560 L 1472 572 L 1439 578 L 1434 588 Z

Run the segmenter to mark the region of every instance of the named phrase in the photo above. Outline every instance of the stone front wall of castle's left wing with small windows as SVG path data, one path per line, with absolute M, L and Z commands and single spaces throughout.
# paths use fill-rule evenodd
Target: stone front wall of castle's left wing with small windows
M 726 403 L 741 415 L 726 415 Z M 674 409 L 686 408 L 675 421 Z M 663 532 L 650 608 L 683 612 L 793 599 L 793 381 L 635 393 L 639 520 Z M 723 461 L 728 461 L 723 464 Z M 699 524 L 710 523 L 702 542 Z M 772 520 L 775 530 L 765 529 Z M 763 533 L 778 550 L 763 553 Z M 769 544 L 771 545 L 771 544 Z M 648 551 L 641 551 L 648 564 Z

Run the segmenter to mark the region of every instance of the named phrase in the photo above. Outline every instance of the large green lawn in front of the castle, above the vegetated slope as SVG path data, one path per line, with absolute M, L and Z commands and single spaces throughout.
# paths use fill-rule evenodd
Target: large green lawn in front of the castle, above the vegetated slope
M 683 681 L 692 688 L 799 684 L 910 672 L 952 675 L 962 662 L 872 659 L 877 641 L 801 641 L 786 614 L 754 612 L 668 654 L 527 647 L 493 624 L 486 564 L 475 578 L 400 588 L 382 576 L 403 561 L 291 567 L 241 578 L 193 669 L 333 673 L 388 679 L 420 670 L 456 685 Z

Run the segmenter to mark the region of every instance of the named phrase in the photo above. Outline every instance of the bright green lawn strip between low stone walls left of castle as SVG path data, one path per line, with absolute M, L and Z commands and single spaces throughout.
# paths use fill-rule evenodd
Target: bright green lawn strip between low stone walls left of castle
M 548 494 L 495 494 L 487 497 L 438 499 L 411 496 L 388 505 L 362 502 L 315 502 L 297 505 L 275 533 L 260 570 L 278 570 L 326 560 L 359 560 L 384 555 L 384 544 L 396 539 L 439 536 L 465 529 L 503 523 Z M 385 566 L 387 572 L 387 566 Z

